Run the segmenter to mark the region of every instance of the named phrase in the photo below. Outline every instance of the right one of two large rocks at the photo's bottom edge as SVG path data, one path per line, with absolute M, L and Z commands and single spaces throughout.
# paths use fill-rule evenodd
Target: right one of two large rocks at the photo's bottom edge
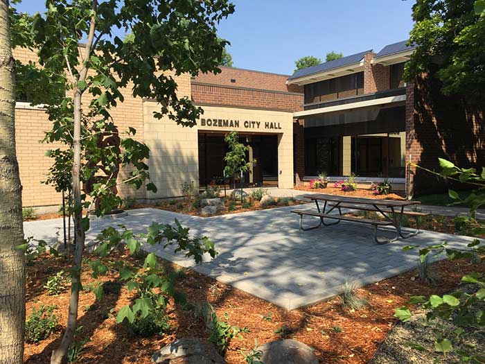
M 297 340 L 277 340 L 257 348 L 265 364 L 318 364 L 313 349 Z

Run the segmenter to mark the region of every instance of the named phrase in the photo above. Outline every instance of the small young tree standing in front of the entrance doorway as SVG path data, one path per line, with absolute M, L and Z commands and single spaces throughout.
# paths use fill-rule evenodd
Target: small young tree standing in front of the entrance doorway
M 238 132 L 232 131 L 224 137 L 224 141 L 229 146 L 229 151 L 224 156 L 225 175 L 233 177 L 234 189 L 236 189 L 236 177 L 241 173 L 249 171 L 249 168 L 256 163 L 256 160 L 252 159 L 247 161 L 247 153 L 249 148 L 239 141 Z

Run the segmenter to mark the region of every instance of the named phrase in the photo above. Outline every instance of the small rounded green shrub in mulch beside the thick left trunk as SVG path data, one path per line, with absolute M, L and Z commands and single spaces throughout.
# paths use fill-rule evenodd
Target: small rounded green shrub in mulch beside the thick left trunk
M 56 306 L 40 306 L 35 308 L 25 322 L 25 340 L 27 343 L 39 343 L 48 338 L 59 327 L 59 321 L 53 311 Z

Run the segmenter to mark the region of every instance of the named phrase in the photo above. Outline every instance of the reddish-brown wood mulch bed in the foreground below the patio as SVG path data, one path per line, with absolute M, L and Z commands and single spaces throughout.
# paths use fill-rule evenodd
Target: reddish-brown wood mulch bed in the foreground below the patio
M 132 258 L 120 252 L 118 259 Z M 55 304 L 58 306 L 55 313 L 60 316 L 62 327 L 65 327 L 68 293 L 49 296 L 43 286 L 48 277 L 61 268 L 67 268 L 67 263 L 62 257 L 43 256 L 33 266 L 28 266 L 27 315 L 40 304 Z M 177 268 L 165 261 L 162 264 L 167 270 Z M 416 279 L 416 272 L 407 272 L 358 289 L 358 295 L 368 300 L 370 305 L 354 312 L 344 309 L 339 297 L 303 309 L 286 311 L 192 270 L 186 270 L 179 281 L 179 288 L 188 294 L 192 302 L 210 302 L 221 318 L 228 313 L 231 324 L 250 330 L 243 333 L 242 341 L 237 338 L 231 341 L 225 356 L 229 364 L 245 363 L 239 350 L 247 352 L 254 346 L 255 339 L 259 344 L 280 339 L 281 335 L 275 331 L 283 326 L 289 331 L 286 338 L 300 340 L 313 347 L 321 363 L 357 364 L 367 363 L 372 358 L 396 322 L 394 309 L 403 306 L 410 295 L 446 293 L 459 284 L 463 275 L 473 271 L 485 272 L 485 263 L 472 265 L 465 261 L 439 261 L 434 268 L 442 277 L 434 287 L 422 284 Z M 85 286 L 93 281 L 87 269 L 85 267 L 83 273 Z M 117 277 L 113 275 L 103 279 L 116 281 Z M 184 311 L 173 303 L 168 306 L 172 326 L 169 333 L 150 338 L 132 336 L 126 327 L 115 322 L 116 310 L 132 299 L 132 293 L 125 288 L 120 293 L 105 295 L 105 299 L 98 303 L 93 293 L 81 293 L 79 324 L 83 326 L 83 335 L 89 336 L 91 341 L 85 345 L 78 363 L 148 364 L 153 352 L 175 338 L 207 337 L 204 323 L 195 318 L 191 311 Z M 110 312 L 112 308 L 115 311 Z M 26 345 L 25 363 L 48 363 L 61 337 L 62 331 L 59 331 L 37 345 Z

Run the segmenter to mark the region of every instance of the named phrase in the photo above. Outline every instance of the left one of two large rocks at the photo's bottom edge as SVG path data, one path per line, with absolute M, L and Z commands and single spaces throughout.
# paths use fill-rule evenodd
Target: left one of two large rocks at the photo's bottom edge
M 175 340 L 152 356 L 159 364 L 225 364 L 215 347 L 198 338 Z

